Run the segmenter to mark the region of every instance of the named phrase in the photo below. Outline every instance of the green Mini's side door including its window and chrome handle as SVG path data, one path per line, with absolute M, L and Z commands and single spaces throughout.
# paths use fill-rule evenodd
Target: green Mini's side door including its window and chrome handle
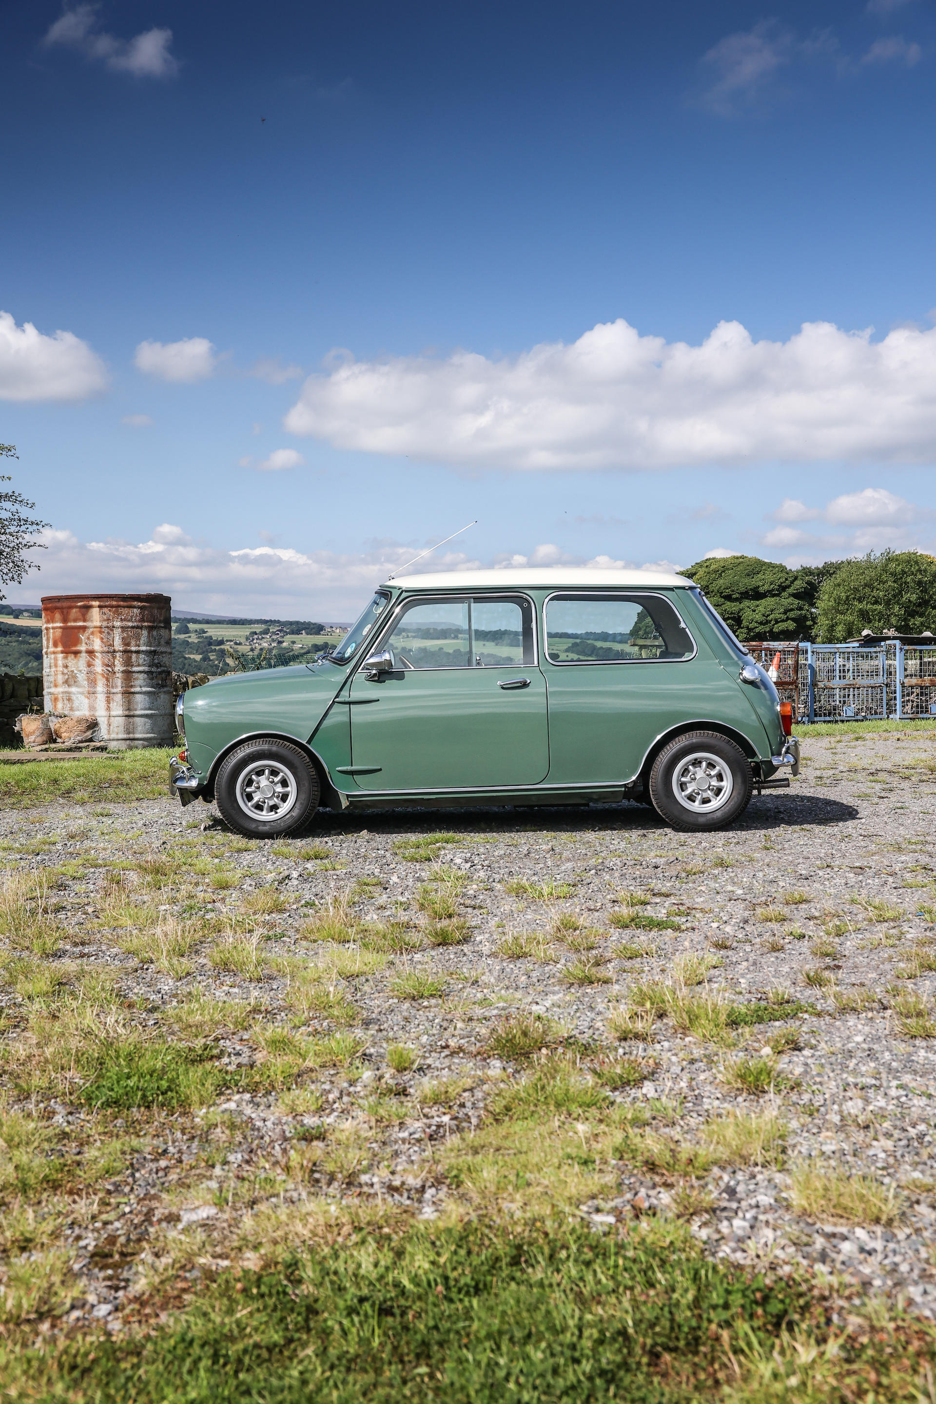
M 549 771 L 546 682 L 525 595 L 415 597 L 379 649 L 394 668 L 351 682 L 355 782 L 372 790 L 537 785 Z

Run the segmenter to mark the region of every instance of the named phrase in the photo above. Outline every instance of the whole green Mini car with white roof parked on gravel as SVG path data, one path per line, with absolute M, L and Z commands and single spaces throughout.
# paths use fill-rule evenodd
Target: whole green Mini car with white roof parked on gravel
M 253 838 L 319 806 L 624 799 L 724 828 L 789 785 L 789 703 L 702 591 L 640 570 L 479 570 L 390 580 L 314 663 L 184 692 L 184 804 Z

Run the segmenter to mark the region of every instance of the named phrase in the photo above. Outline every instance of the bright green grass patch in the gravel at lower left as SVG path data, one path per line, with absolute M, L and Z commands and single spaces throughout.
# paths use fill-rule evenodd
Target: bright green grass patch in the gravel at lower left
M 138 1040 L 100 1042 L 81 1088 L 86 1106 L 131 1111 L 136 1106 L 203 1106 L 222 1081 L 202 1045 L 153 1045 Z

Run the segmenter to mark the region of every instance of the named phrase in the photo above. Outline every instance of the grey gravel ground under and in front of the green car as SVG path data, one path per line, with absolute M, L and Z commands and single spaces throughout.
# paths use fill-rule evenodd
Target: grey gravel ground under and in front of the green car
M 738 827 L 710 837 L 675 834 L 636 804 L 352 819 L 323 813 L 289 845 L 232 842 L 212 809 L 182 810 L 168 797 L 4 814 L 7 869 L 79 863 L 58 887 L 70 943 L 53 962 L 100 963 L 115 972 L 125 1000 L 135 1001 L 131 1016 L 143 1028 L 171 1021 L 173 1005 L 194 988 L 219 1000 L 255 1001 L 267 1018 L 285 1021 L 286 979 L 268 970 L 250 981 L 215 969 L 205 953 L 180 980 L 133 960 L 115 945 L 114 931 L 101 928 L 105 869 L 81 869 L 81 862 L 132 866 L 140 855 L 171 858 L 180 840 L 195 841 L 206 854 L 223 852 L 236 879 L 229 892 L 202 886 L 205 879 L 195 875 L 181 893 L 178 883 L 164 889 L 160 906 L 189 918 L 225 918 L 272 886 L 285 910 L 257 918 L 267 952 L 312 958 L 320 946 L 303 941 L 300 928 L 342 893 L 351 893 L 365 931 L 394 917 L 424 921 L 420 886 L 431 880 L 435 858 L 459 875 L 452 890 L 470 927 L 460 945 L 396 956 L 379 974 L 341 981 L 361 1011 L 354 1029 L 366 1047 L 352 1078 L 338 1068 L 306 1084 L 320 1092 L 320 1109 L 289 1106 L 261 1091 L 225 1097 L 206 1113 L 157 1118 L 146 1150 L 104 1182 L 93 1210 L 73 1214 L 63 1228 L 81 1283 L 69 1320 L 104 1320 L 115 1328 L 131 1320 L 142 1265 L 149 1264 L 152 1280 L 154 1244 L 159 1240 L 166 1254 L 173 1234 L 202 1236 L 185 1268 L 194 1283 L 223 1264 L 250 1264 L 243 1214 L 262 1206 L 262 1189 L 236 1198 L 234 1186 L 258 1167 L 285 1165 L 288 1148 L 297 1137 L 317 1134 L 316 1127 L 328 1134 L 359 1125 L 361 1106 L 375 1091 L 400 1098 L 425 1078 L 464 1080 L 463 1091 L 449 1088 L 448 1105 L 411 1098 L 403 1119 L 372 1126 L 377 1153 L 362 1163 L 368 1170 L 355 1168 L 354 1158 L 344 1167 L 333 1163 L 312 1177 L 314 1195 L 335 1205 L 394 1202 L 424 1219 L 443 1213 L 450 1191 L 434 1170 L 434 1147 L 479 1126 L 491 1088 L 522 1075 L 519 1066 L 490 1056 L 491 1025 L 511 1011 L 533 1012 L 557 1021 L 567 1038 L 608 1047 L 609 1008 L 626 1002 L 636 981 L 671 980 L 674 962 L 679 970 L 683 958 L 685 970 L 692 955 L 717 962 L 696 994 L 721 990 L 734 1004 L 762 1005 L 786 993 L 805 1008 L 794 1018 L 740 1028 L 735 1050 L 660 1019 L 651 1042 L 630 1039 L 617 1049 L 644 1060 L 647 1075 L 613 1097 L 646 1108 L 658 1127 L 686 1141 L 730 1109 L 762 1113 L 775 1106 L 787 1123 L 783 1168 L 711 1170 L 693 1186 L 699 1202 L 692 1213 L 685 1193 L 679 1198 L 679 1177 L 636 1174 L 616 1163 L 617 1193 L 585 1202 L 578 1213 L 603 1231 L 634 1214 L 682 1212 L 713 1257 L 780 1269 L 805 1264 L 838 1278 L 846 1299 L 888 1294 L 936 1320 L 936 1039 L 928 1036 L 936 1035 L 929 1008 L 936 974 L 926 969 L 936 967 L 936 736 L 807 736 L 804 751 L 804 775 L 790 792 L 755 796 Z M 400 851 L 406 840 L 442 831 L 455 838 L 421 861 Z M 327 855 L 303 858 L 313 844 L 324 845 Z M 507 885 L 518 882 L 532 890 L 509 893 Z M 550 882 L 567 894 L 537 899 L 536 886 Z M 609 927 L 622 910 L 622 892 L 643 893 L 643 915 L 669 915 L 676 927 Z M 550 941 L 563 913 L 601 934 L 602 963 L 595 969 L 608 983 L 568 983 L 580 956 L 554 935 Z M 540 955 L 549 959 L 502 958 L 498 946 L 512 935 L 542 935 Z M 634 955 L 634 948 L 644 953 Z M 439 979 L 445 998 L 396 998 L 389 984 L 401 973 Z M 918 997 L 915 1009 L 908 994 Z M 8 988 L 0 997 L 7 1007 L 4 1039 L 13 1043 L 21 1036 L 24 1001 Z M 331 1028 L 327 1018 L 309 1019 L 312 1032 Z M 790 1045 L 779 1056 L 766 1042 L 773 1038 L 782 1047 L 776 1035 Z M 261 1057 L 248 1028 L 222 1028 L 218 1042 L 229 1067 Z M 418 1067 L 390 1074 L 390 1045 L 417 1049 Z M 612 1054 L 615 1049 L 610 1038 Z M 772 1085 L 762 1092 L 728 1085 L 726 1059 L 745 1053 L 756 1060 L 761 1049 Z M 73 1090 L 63 1090 L 60 1101 L 44 1106 L 34 1098 L 29 1105 L 66 1130 L 88 1116 L 72 1098 Z M 206 1161 L 203 1129 L 212 1112 L 219 1148 Z M 123 1120 L 112 1125 L 116 1133 Z M 797 1212 L 791 1172 L 803 1161 L 873 1177 L 884 1195 L 895 1196 L 894 1213 L 883 1216 L 890 1223 Z M 282 1205 L 282 1186 L 278 1195 Z M 296 1203 L 303 1196 L 286 1192 Z

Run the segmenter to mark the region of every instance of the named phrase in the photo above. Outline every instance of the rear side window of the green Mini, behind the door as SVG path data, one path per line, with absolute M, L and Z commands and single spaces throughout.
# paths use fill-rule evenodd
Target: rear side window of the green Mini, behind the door
M 695 651 L 665 595 L 570 592 L 546 602 L 550 663 L 678 663 Z

